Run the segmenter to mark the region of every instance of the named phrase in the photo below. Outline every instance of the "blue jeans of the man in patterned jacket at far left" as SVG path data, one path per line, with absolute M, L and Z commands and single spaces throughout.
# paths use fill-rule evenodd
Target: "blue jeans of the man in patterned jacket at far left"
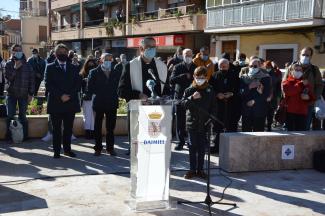
M 11 137 L 9 126 L 10 121 L 14 119 L 16 115 L 16 108 L 18 103 L 18 120 L 23 125 L 24 138 L 28 137 L 28 122 L 26 118 L 27 106 L 28 106 L 28 98 L 16 98 L 13 96 L 7 97 L 7 138 Z

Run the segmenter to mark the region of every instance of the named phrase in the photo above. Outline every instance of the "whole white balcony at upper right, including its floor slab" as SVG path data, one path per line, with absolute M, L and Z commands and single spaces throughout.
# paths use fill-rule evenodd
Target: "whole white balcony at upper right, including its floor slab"
M 209 0 L 206 32 L 324 25 L 323 0 Z M 225 4 L 229 2 L 229 4 Z

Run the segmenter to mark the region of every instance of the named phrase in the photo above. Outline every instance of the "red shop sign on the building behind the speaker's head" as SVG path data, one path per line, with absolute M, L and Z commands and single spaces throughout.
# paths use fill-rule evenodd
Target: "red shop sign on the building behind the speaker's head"
M 185 36 L 184 35 L 164 35 L 153 37 L 156 40 L 156 46 L 184 46 Z M 128 47 L 139 47 L 141 40 L 140 38 L 128 38 Z

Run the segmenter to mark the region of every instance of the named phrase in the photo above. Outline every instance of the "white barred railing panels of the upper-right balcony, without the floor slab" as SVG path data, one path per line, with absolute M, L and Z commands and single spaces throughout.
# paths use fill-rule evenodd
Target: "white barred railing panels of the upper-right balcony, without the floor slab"
M 212 4 L 216 1 L 207 2 L 207 28 L 271 24 L 321 16 L 321 10 L 316 6 L 321 0 L 232 0 L 233 4 L 231 0 L 219 0 L 230 4 Z

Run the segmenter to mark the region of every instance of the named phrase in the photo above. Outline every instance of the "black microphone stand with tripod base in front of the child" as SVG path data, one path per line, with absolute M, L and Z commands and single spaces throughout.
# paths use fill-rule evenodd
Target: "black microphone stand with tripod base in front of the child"
M 218 123 L 220 126 L 223 127 L 223 129 L 225 130 L 225 125 L 223 122 L 221 122 L 217 117 L 211 115 L 208 111 L 206 111 L 205 109 L 202 109 L 198 106 L 196 106 L 195 104 L 192 104 L 195 108 L 197 108 L 199 111 L 202 111 L 204 114 L 208 115 L 209 116 L 209 119 L 208 121 L 205 123 L 205 126 L 211 126 L 211 124 L 213 122 L 216 122 Z M 211 131 L 211 130 L 210 130 Z M 209 139 L 210 139 L 210 134 L 209 134 Z M 210 156 L 211 156 L 211 152 L 210 152 L 210 142 L 208 142 L 208 170 L 207 170 L 207 191 L 206 191 L 206 197 L 205 197 L 205 200 L 204 201 L 197 201 L 197 202 L 192 202 L 192 201 L 180 201 L 178 200 L 177 201 L 177 204 L 206 204 L 208 206 L 208 209 L 209 209 L 209 215 L 211 216 L 212 213 L 211 213 L 211 206 L 213 205 L 227 205 L 227 206 L 233 206 L 233 207 L 237 207 L 237 204 L 236 203 L 227 203 L 227 202 L 221 202 L 222 199 L 220 199 L 219 201 L 217 202 L 214 202 L 212 201 L 212 198 L 211 198 L 211 194 L 210 194 Z

